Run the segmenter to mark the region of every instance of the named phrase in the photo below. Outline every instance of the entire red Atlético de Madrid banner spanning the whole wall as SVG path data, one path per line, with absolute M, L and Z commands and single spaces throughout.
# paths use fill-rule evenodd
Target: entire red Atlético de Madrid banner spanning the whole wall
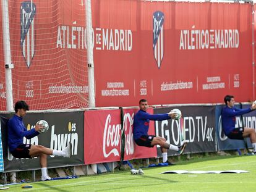
M 87 107 L 83 1 L 8 3 L 14 102 L 23 99 L 31 109 Z M 140 98 L 214 103 L 226 94 L 238 102 L 255 99 L 254 8 L 93 0 L 96 106 L 137 106 Z M 2 39 L 0 44 L 3 56 Z M 0 70 L 0 110 L 6 110 L 4 65 Z

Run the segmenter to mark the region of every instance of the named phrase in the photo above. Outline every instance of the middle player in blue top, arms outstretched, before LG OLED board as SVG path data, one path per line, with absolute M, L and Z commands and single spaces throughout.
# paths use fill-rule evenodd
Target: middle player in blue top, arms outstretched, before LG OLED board
M 167 162 L 168 165 L 172 163 L 168 161 L 167 149 L 179 152 L 182 154 L 186 148 L 187 143 L 182 143 L 181 146 L 175 146 L 173 144 L 166 143 L 166 139 L 160 136 L 148 135 L 148 128 L 150 120 L 167 120 L 174 119 L 176 114 L 155 114 L 151 115 L 147 113 L 148 102 L 146 99 L 139 101 L 140 110 L 134 116 L 134 141 L 139 146 L 145 146 L 147 148 L 153 148 L 156 144 L 161 146 L 161 152 L 163 155 L 163 162 Z

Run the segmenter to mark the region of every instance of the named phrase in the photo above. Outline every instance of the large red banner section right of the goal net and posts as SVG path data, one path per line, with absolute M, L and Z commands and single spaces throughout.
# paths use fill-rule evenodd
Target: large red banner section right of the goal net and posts
M 92 12 L 97 106 L 254 99 L 251 4 L 104 0 Z

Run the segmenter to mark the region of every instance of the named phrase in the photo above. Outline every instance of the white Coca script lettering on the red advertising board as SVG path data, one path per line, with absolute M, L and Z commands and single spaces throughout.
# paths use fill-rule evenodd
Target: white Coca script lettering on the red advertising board
M 104 157 L 108 157 L 112 153 L 114 154 L 114 156 L 120 156 L 119 155 L 120 140 L 121 140 L 121 124 L 111 125 L 111 115 L 108 114 L 108 117 L 105 122 L 104 136 L 103 136 Z

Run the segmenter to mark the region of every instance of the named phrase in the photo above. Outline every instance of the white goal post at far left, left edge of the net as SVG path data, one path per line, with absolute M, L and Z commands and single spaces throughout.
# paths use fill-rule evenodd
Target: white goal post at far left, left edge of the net
M 6 68 L 6 109 L 7 111 L 11 111 L 14 109 L 12 98 L 12 68 L 14 66 L 11 63 L 9 11 L 7 0 L 2 0 L 2 38 L 4 41 L 4 66 Z

